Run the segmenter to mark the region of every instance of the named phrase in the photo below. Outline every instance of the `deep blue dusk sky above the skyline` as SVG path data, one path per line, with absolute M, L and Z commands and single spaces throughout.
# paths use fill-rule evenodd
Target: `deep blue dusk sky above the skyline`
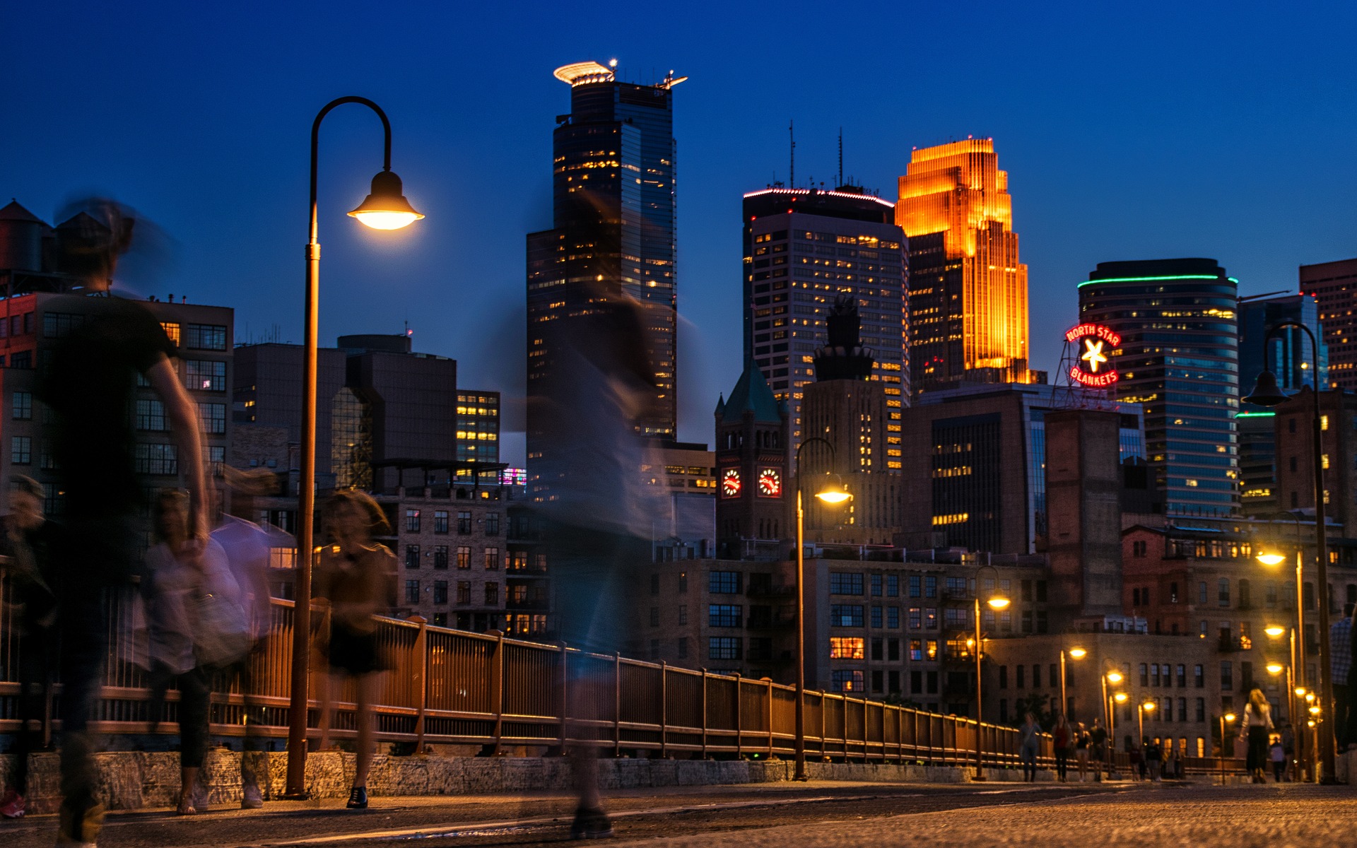
M 322 130 L 322 343 L 414 331 L 464 385 L 522 392 L 524 235 L 551 227 L 551 71 L 670 68 L 678 140 L 680 437 L 711 441 L 740 373 L 740 197 L 844 170 L 887 199 L 912 147 L 992 136 L 1029 266 L 1033 365 L 1113 259 L 1210 256 L 1243 293 L 1357 255 L 1357 12 L 1342 4 L 23 3 L 0 12 L 0 204 L 49 223 L 81 193 L 167 233 L 133 293 L 236 308 L 237 341 L 301 341 L 311 121 L 364 95 L 427 218 L 345 212 L 377 119 Z M 1179 8 L 1190 7 L 1190 8 Z M 832 11 L 826 11 L 832 9 Z M 506 426 L 521 427 L 509 415 Z M 505 438 L 522 461 L 522 440 Z

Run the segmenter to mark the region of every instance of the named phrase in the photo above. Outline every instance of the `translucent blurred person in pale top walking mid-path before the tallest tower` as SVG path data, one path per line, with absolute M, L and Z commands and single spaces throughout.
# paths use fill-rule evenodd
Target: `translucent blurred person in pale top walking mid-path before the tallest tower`
M 615 282 L 579 281 L 562 320 L 533 326 L 551 361 L 529 379 L 529 488 L 546 524 L 547 559 L 560 638 L 582 651 L 612 654 L 628 636 L 619 609 L 636 563 L 650 559 L 655 494 L 642 484 L 638 436 L 658 408 L 647 307 Z M 651 307 L 653 308 L 653 307 Z M 651 315 L 651 320 L 673 320 Z M 571 839 L 612 836 L 598 794 L 598 750 L 593 727 L 571 720 L 590 715 L 611 682 L 597 663 L 570 659 L 566 746 L 579 803 Z

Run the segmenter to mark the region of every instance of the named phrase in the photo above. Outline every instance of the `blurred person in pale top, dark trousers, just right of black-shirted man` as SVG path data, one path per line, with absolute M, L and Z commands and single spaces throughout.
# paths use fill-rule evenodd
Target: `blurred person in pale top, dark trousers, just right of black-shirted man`
M 166 691 L 179 692 L 179 814 L 201 813 L 206 788 L 198 772 L 208 753 L 212 668 L 199 655 L 204 642 L 217 639 L 210 632 L 204 601 L 231 605 L 231 615 L 243 625 L 240 590 L 227 564 L 221 545 L 209 540 L 201 554 L 186 555 L 189 541 L 189 495 L 166 490 L 155 503 L 156 544 L 147 551 L 147 575 L 141 594 L 147 605 L 148 654 L 151 659 L 151 722 L 164 715 Z M 210 651 L 210 649 L 209 649 Z

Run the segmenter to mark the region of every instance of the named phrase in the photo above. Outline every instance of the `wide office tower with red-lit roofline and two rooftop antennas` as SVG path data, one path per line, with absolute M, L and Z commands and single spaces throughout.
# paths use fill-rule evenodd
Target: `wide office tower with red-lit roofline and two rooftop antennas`
M 852 186 L 772 187 L 746 194 L 742 212 L 745 358 L 787 404 L 792 449 L 811 360 L 826 341 L 825 308 L 840 296 L 858 301 L 863 343 L 875 351 L 870 379 L 898 419 L 909 404 L 908 266 L 892 204 Z

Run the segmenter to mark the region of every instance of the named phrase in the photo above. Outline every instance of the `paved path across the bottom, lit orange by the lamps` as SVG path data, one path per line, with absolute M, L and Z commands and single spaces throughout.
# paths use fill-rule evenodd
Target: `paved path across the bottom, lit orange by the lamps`
M 421 848 L 566 840 L 569 796 L 377 798 L 109 817 L 103 848 Z M 1312 786 L 866 784 L 678 787 L 608 798 L 611 845 L 1031 845 L 1318 848 L 1357 843 L 1357 790 Z M 47 848 L 53 817 L 0 822 L 0 845 Z

